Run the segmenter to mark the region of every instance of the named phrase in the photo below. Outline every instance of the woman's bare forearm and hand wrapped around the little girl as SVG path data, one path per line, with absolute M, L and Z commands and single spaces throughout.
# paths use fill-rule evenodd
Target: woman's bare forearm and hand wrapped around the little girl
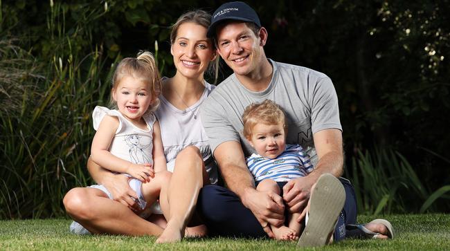
M 129 187 L 128 177 L 121 174 L 113 174 L 111 171 L 97 165 L 89 157 L 87 169 L 96 183 L 104 185 L 113 196 L 115 201 L 126 205 L 132 210 L 138 210 L 138 204 L 134 198 L 138 198 L 136 192 Z

